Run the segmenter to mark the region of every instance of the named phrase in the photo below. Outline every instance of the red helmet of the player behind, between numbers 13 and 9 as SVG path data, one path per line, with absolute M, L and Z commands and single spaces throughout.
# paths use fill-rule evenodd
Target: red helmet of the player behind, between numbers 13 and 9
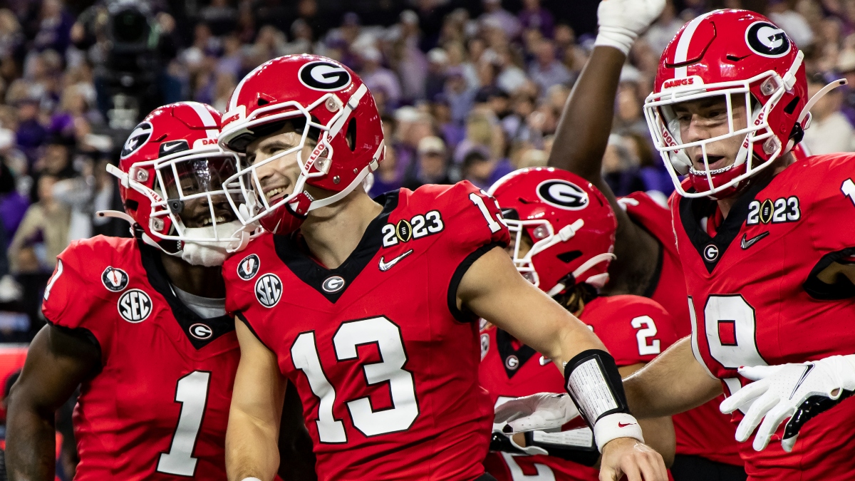
M 597 187 L 566 170 L 535 167 L 505 175 L 489 193 L 514 241 L 514 265 L 555 296 L 580 282 L 602 288 L 615 255 L 615 213 Z M 525 232 L 533 245 L 522 257 Z

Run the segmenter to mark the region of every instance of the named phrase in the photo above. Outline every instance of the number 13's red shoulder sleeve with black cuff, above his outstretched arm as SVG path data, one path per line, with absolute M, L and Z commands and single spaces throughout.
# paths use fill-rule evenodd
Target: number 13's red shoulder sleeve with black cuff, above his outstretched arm
M 414 193 L 414 198 L 421 197 L 419 191 L 428 194 L 425 199 L 432 199 L 445 224 L 431 252 L 435 262 L 455 266 L 448 282 L 448 308 L 458 321 L 472 322 L 475 316 L 471 312 L 457 309 L 457 287 L 469 267 L 482 255 L 496 246 L 508 246 L 510 233 L 502 211 L 496 199 L 469 181 L 457 182 L 451 187 L 425 186 Z

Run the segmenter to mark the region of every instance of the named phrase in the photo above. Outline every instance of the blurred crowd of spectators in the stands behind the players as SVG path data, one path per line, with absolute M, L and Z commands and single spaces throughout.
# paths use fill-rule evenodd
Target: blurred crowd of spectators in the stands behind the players
M 372 193 L 462 179 L 486 188 L 513 169 L 545 165 L 594 33 L 575 32 L 551 13 L 550 0 L 399 3 L 392 15 L 360 16 L 331 15 L 323 0 L 145 2 L 156 36 L 158 67 L 147 73 L 156 102 L 192 99 L 224 110 L 252 68 L 275 56 L 315 53 L 357 71 L 380 106 L 388 150 Z M 669 39 L 705 11 L 764 11 L 805 50 L 814 92 L 841 76 L 855 81 L 855 0 L 748 3 L 669 2 L 634 45 L 604 159 L 616 193 L 644 190 L 664 199 L 673 190 L 641 107 Z M 128 235 L 127 224 L 94 215 L 121 210 L 115 179 L 104 169 L 117 160 L 121 123 L 105 87 L 106 4 L 8 0 L 0 9 L 3 341 L 27 341 L 44 323 L 44 285 L 70 241 Z M 813 153 L 853 150 L 853 123 L 855 91 L 839 88 L 813 109 L 805 143 Z

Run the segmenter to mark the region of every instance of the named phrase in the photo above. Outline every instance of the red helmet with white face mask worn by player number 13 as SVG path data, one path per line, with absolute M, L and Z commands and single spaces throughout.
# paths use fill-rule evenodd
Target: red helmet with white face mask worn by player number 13
M 277 132 L 288 120 L 304 122 L 299 145 L 242 166 L 227 184 L 235 192 L 229 202 L 240 221 L 259 221 L 274 234 L 298 229 L 309 211 L 351 193 L 377 169 L 385 151 L 380 113 L 368 87 L 350 68 L 315 55 L 280 56 L 247 74 L 229 100 L 220 145 L 245 153 L 253 140 Z M 303 158 L 307 142 L 316 145 Z M 271 205 L 257 169 L 294 152 L 300 166 L 294 190 Z M 313 199 L 306 184 L 335 194 Z

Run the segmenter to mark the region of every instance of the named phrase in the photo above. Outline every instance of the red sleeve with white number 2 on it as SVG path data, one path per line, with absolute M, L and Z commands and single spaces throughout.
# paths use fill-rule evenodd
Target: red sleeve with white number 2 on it
M 616 364 L 647 363 L 677 341 L 675 321 L 656 301 L 616 295 L 594 301 L 582 321 L 609 349 Z

